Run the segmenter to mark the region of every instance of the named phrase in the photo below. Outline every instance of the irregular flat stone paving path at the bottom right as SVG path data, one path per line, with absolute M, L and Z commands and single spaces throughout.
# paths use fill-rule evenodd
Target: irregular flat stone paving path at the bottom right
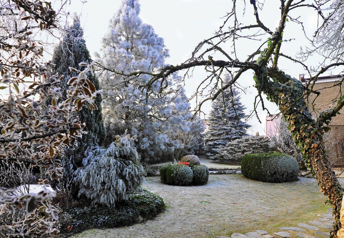
M 298 223 L 297 226 L 290 227 L 278 227 L 281 231 L 275 232 L 273 234 L 268 234 L 265 230 L 250 231 L 246 234 L 233 233 L 230 238 L 280 238 L 280 237 L 293 237 L 293 238 L 320 238 L 329 237 L 330 232 L 320 231 L 324 229 L 329 229 L 333 225 L 332 208 L 327 209 L 327 213 L 317 215 L 318 218 L 309 221 L 309 224 Z M 311 224 L 311 225 L 310 225 Z M 290 231 L 297 232 L 290 234 Z M 311 232 L 310 232 L 311 231 Z M 314 233 L 315 235 L 310 235 L 308 233 Z M 227 236 L 217 236 L 217 238 L 229 238 Z

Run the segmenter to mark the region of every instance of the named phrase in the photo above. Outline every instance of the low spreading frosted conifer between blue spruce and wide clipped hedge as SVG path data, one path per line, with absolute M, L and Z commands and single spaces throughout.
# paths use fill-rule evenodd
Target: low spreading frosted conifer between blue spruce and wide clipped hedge
M 241 161 L 245 155 L 252 153 L 267 153 L 275 150 L 271 140 L 265 136 L 244 136 L 228 142 L 225 146 L 214 149 L 213 160 Z

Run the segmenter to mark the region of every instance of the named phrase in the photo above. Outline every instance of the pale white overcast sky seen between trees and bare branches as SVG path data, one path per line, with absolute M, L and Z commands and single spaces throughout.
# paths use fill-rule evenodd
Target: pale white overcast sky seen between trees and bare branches
M 223 23 L 223 19 L 220 18 L 230 11 L 231 3 L 230 0 L 140 0 L 140 16 L 143 22 L 151 24 L 155 33 L 164 38 L 171 56 L 166 60 L 166 63 L 177 65 L 187 59 L 200 41 L 213 35 L 219 25 Z M 279 3 L 280 1 L 277 0 L 265 0 L 264 8 L 260 13 L 261 21 L 271 30 L 278 26 L 280 19 Z M 71 5 L 68 7 L 69 12 L 80 15 L 81 24 L 84 26 L 86 45 L 91 54 L 99 51 L 101 39 L 108 29 L 109 20 L 116 14 L 120 5 L 121 0 L 88 0 L 84 4 L 77 0 L 71 1 Z M 309 29 L 309 33 L 313 33 L 317 23 L 316 14 L 307 9 L 297 11 L 299 10 L 294 10 L 293 13 L 302 15 L 301 20 Z M 246 5 L 244 23 L 255 24 L 249 1 Z M 293 22 L 288 22 L 284 38 L 297 39 L 282 48 L 282 50 L 286 50 L 284 53 L 288 53 L 290 56 L 294 56 L 298 52 L 300 45 L 307 44 L 301 28 Z M 237 45 L 239 57 L 247 57 L 257 48 L 252 43 L 246 43 Z M 261 42 L 257 42 L 257 44 L 260 45 Z M 228 43 L 226 47 L 226 50 L 230 51 L 231 44 Z M 214 59 L 219 58 L 214 57 Z M 317 63 L 316 59 L 312 60 Z M 300 73 L 305 73 L 301 66 L 290 63 L 288 60 L 281 60 L 279 67 L 295 78 L 298 78 Z M 244 87 L 252 86 L 254 83 L 252 76 L 253 72 L 245 73 L 239 83 Z M 193 77 L 186 80 L 185 90 L 188 96 L 193 94 L 198 82 L 205 77 L 204 67 L 194 71 Z M 247 113 L 252 110 L 256 95 L 256 90 L 252 87 L 248 88 L 246 94 L 241 95 L 241 101 L 247 107 Z M 269 102 L 265 102 L 265 104 L 270 112 L 276 112 L 276 105 Z M 208 112 L 209 108 L 210 103 L 204 106 L 203 111 Z M 262 124 L 259 124 L 256 117 L 251 118 L 249 120 L 252 125 L 251 134 L 257 131 L 260 134 L 265 134 L 267 113 L 259 110 L 258 114 Z

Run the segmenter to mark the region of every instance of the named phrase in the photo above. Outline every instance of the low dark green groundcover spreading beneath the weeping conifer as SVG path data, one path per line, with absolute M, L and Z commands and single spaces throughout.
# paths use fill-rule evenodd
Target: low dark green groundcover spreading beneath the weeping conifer
M 129 195 L 116 207 L 89 204 L 84 207 L 67 208 L 58 214 L 60 233 L 79 233 L 89 228 L 113 228 L 128 226 L 143 219 L 149 219 L 165 208 L 162 198 L 147 190 Z M 72 226 L 72 231 L 67 227 Z

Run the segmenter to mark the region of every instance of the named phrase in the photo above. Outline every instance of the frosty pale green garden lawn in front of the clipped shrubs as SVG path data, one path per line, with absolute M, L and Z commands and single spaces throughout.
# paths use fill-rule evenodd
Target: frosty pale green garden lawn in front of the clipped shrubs
M 160 177 L 146 180 L 143 186 L 164 199 L 164 213 L 133 226 L 87 230 L 74 238 L 210 238 L 256 229 L 271 234 L 280 231 L 278 226 L 307 223 L 330 207 L 310 178 L 263 183 L 242 175 L 211 175 L 206 185 L 186 187 L 162 184 Z

